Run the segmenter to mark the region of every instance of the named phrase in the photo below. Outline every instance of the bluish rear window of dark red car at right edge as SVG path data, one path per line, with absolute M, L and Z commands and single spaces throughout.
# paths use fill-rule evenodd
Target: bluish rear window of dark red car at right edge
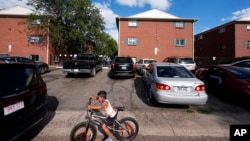
M 231 72 L 238 79 L 250 79 L 250 71 L 249 71 L 249 69 L 230 68 L 229 72 Z

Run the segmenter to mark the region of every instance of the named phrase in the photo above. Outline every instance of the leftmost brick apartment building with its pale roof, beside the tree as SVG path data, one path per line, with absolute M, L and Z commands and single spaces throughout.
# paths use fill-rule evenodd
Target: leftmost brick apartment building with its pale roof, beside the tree
M 20 22 L 31 13 L 30 9 L 21 6 L 0 10 L 0 53 L 54 64 L 53 51 L 49 47 L 48 39 L 23 32 L 27 25 L 21 25 Z M 39 24 L 39 21 L 32 24 Z

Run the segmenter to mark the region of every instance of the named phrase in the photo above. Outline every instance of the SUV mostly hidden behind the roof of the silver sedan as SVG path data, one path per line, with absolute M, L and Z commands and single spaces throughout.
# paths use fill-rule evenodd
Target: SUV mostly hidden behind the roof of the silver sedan
M 177 63 L 186 67 L 189 71 L 193 71 L 196 68 L 196 63 L 191 57 L 166 57 L 163 62 Z

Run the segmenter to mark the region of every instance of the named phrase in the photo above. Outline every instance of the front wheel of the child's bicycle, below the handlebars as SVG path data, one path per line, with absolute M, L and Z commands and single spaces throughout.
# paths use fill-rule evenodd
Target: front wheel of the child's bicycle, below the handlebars
M 94 141 L 96 136 L 97 130 L 93 124 L 81 122 L 72 128 L 70 132 L 70 141 Z

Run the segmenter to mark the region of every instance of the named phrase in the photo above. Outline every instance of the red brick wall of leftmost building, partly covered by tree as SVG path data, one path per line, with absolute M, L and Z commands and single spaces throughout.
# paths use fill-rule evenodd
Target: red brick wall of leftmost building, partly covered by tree
M 46 43 L 30 44 L 27 33 L 23 32 L 26 25 L 18 24 L 23 20 L 18 17 L 0 17 L 0 52 L 24 57 L 39 55 L 40 61 L 47 62 Z M 50 61 L 47 63 L 50 64 Z

